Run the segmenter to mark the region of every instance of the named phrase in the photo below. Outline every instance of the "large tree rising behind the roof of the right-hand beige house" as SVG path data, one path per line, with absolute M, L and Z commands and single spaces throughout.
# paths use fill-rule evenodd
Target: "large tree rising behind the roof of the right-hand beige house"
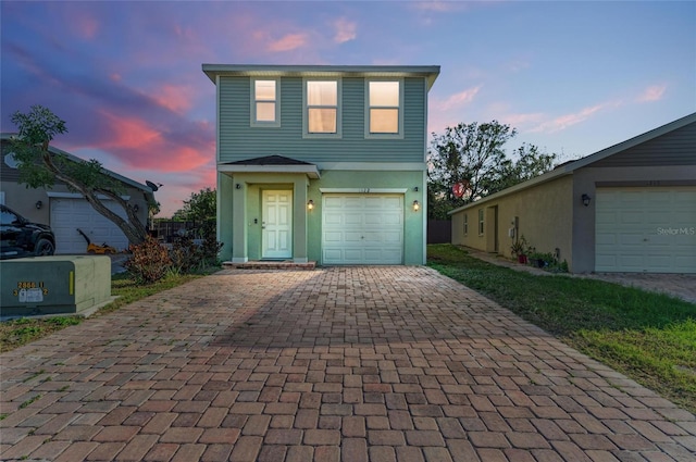
M 548 172 L 556 154 L 522 145 L 508 158 L 505 146 L 517 135 L 510 125 L 497 121 L 464 124 L 433 134 L 428 163 L 428 217 L 446 220 L 447 212 L 518 183 Z M 457 197 L 452 186 L 462 184 Z

